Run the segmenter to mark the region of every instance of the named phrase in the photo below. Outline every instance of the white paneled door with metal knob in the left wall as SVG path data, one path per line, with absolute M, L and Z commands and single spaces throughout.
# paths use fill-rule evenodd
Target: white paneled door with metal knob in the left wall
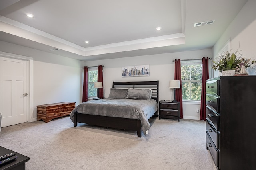
M 28 61 L 0 57 L 2 127 L 28 121 Z

